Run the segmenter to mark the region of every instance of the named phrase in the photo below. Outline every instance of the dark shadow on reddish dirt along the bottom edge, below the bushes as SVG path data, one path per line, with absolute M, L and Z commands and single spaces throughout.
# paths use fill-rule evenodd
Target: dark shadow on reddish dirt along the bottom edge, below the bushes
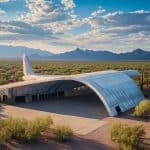
M 99 143 L 92 139 L 85 139 L 82 137 L 74 136 L 71 141 L 58 142 L 55 139 L 48 139 L 47 141 L 40 140 L 37 143 L 23 144 L 11 141 L 6 144 L 7 148 L 22 149 L 22 150 L 113 150 L 114 148 Z

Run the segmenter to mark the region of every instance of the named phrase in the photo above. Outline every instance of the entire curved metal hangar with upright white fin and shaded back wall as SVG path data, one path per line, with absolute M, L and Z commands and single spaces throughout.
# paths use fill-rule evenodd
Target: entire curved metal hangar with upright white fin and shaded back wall
M 87 87 L 99 97 L 110 116 L 116 116 L 120 112 L 135 107 L 144 98 L 140 88 L 132 79 L 139 74 L 136 70 L 109 70 L 70 76 L 42 76 L 32 72 L 27 56 L 23 57 L 23 69 L 23 78 L 26 81 L 2 86 L 1 91 L 3 89 L 4 93 L 2 97 L 13 99 L 12 96 L 15 96 L 14 99 L 19 100 L 19 97 L 23 99 L 24 95 L 25 101 L 29 102 L 40 99 L 42 96 L 49 98 L 52 94 L 53 96 L 55 94 L 69 95 L 71 94 L 69 89 L 76 91 L 80 88 L 81 91 L 84 91 L 84 88 Z M 59 89 L 57 93 L 54 92 L 56 89 Z

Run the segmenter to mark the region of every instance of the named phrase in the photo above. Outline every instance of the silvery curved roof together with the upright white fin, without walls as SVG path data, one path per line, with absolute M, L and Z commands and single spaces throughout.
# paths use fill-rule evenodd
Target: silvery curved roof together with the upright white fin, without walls
M 74 80 L 91 88 L 105 105 L 110 116 L 116 116 L 116 107 L 124 112 L 134 107 L 144 96 L 132 77 L 139 74 L 137 70 L 99 71 L 71 76 L 37 76 L 32 72 L 27 56 L 23 57 L 24 79 L 38 81 Z

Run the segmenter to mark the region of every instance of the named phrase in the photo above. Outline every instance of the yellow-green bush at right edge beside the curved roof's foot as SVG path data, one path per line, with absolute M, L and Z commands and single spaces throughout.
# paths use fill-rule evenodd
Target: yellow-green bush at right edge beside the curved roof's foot
M 138 117 L 150 117 L 150 100 L 141 101 L 135 107 L 134 115 Z

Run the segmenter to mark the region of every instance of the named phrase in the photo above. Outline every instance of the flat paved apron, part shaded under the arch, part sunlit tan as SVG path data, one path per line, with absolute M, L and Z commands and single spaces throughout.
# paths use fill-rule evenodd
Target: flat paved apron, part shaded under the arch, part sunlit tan
M 13 116 L 27 119 L 52 116 L 55 124 L 69 125 L 79 135 L 86 135 L 106 124 L 104 105 L 96 95 L 22 103 L 15 106 L 1 105 L 1 117 Z

